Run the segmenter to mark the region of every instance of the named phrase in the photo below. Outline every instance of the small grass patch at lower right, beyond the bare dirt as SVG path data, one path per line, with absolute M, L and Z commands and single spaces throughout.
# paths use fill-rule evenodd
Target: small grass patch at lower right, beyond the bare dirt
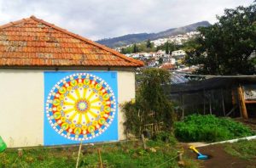
M 256 160 L 256 140 L 241 140 L 237 143 L 225 143 L 224 150 L 243 160 Z

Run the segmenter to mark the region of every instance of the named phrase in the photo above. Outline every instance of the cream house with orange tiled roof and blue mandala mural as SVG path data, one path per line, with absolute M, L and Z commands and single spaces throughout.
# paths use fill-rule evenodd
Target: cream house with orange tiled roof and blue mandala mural
M 0 26 L 0 136 L 9 148 L 125 139 L 131 59 L 32 16 Z

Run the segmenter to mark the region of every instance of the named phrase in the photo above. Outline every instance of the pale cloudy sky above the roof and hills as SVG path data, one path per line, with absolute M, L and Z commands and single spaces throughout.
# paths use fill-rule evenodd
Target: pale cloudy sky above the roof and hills
M 207 20 L 253 0 L 0 0 L 0 25 L 31 15 L 98 40 Z

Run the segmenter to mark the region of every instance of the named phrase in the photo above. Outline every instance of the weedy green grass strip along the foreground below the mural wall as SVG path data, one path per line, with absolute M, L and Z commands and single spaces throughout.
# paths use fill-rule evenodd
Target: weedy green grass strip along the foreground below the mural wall
M 151 140 L 147 141 L 147 146 L 147 150 L 143 149 L 140 142 L 83 146 L 79 167 L 99 167 L 98 148 L 101 150 L 104 167 L 178 167 L 177 159 L 170 160 L 177 156 L 177 146 Z M 0 167 L 75 167 L 78 150 L 78 147 L 24 149 L 23 155 L 19 157 L 16 149 L 7 149 L 0 154 Z M 163 164 L 167 160 L 170 161 Z M 184 162 L 187 167 L 198 167 L 189 158 L 185 158 Z

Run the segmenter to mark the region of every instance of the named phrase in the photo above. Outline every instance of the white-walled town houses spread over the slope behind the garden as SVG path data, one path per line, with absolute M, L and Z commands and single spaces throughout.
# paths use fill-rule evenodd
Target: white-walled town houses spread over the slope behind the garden
M 199 31 L 189 31 L 185 34 L 178 34 L 176 36 L 169 36 L 153 41 L 148 40 L 148 42 L 130 44 L 125 47 L 115 48 L 115 50 L 119 51 L 120 53 L 126 52 L 125 55 L 133 59 L 142 60 L 145 67 L 191 72 L 195 70 L 196 67 L 189 67 L 184 64 L 184 59 L 186 56 L 184 43 L 195 39 L 195 37 L 199 35 Z M 138 46 L 143 45 L 146 45 L 146 48 L 143 48 L 142 51 L 136 49 Z M 147 45 L 149 46 L 149 49 L 147 48 Z M 170 48 L 168 45 L 172 45 L 174 48 Z M 131 48 L 130 51 L 125 51 L 129 50 L 129 48 Z

